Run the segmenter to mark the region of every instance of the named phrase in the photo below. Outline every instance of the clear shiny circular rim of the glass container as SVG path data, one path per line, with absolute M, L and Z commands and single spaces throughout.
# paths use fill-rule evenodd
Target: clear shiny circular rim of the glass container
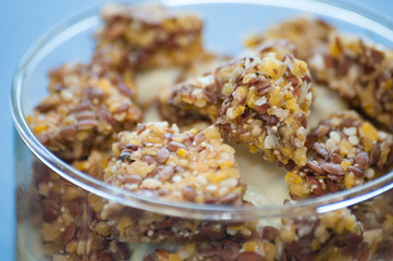
M 138 1 L 132 1 L 134 3 Z M 140 1 L 142 2 L 142 1 Z M 291 2 L 291 4 L 288 4 Z M 269 0 L 163 0 L 164 5 L 189 5 L 189 4 L 217 4 L 217 3 L 242 3 L 242 4 L 260 4 L 277 8 L 290 8 L 292 10 L 303 10 L 300 4 L 317 4 L 319 8 L 328 8 L 333 10 L 340 10 L 351 14 L 353 21 L 364 20 L 368 23 L 372 23 L 374 26 L 378 25 L 378 32 L 389 33 L 389 39 L 393 42 L 393 23 L 388 17 L 373 10 L 369 10 L 361 4 L 355 2 L 342 2 L 341 0 L 275 0 L 273 2 Z M 121 204 L 125 204 L 132 208 L 148 210 L 167 215 L 176 215 L 182 217 L 204 219 L 204 220 L 216 220 L 216 221 L 245 221 L 260 217 L 279 217 L 279 216 L 291 216 L 294 213 L 296 215 L 307 215 L 315 213 L 324 213 L 328 211 L 345 208 L 358 202 L 365 201 L 372 197 L 376 197 L 391 188 L 393 188 L 393 172 L 382 175 L 379 178 L 370 181 L 361 186 L 354 187 L 347 190 L 339 191 L 335 194 L 329 194 L 317 198 L 304 199 L 298 201 L 291 201 L 286 204 L 273 204 L 273 206 L 261 206 L 261 207 L 231 207 L 231 206 L 216 206 L 216 204 L 197 204 L 197 203 L 184 203 L 184 202 L 168 202 L 157 200 L 152 198 L 144 198 L 140 195 L 132 191 L 121 189 L 113 185 L 108 185 L 102 181 L 96 179 L 74 167 L 66 164 L 61 159 L 57 158 L 52 152 L 45 148 L 35 135 L 32 133 L 28 124 L 25 120 L 22 109 L 22 91 L 24 86 L 24 75 L 26 70 L 29 69 L 32 61 L 38 59 L 45 48 L 48 48 L 49 44 L 52 44 L 56 37 L 60 36 L 64 32 L 71 28 L 83 32 L 87 29 L 94 18 L 98 18 L 101 5 L 89 8 L 76 15 L 72 15 L 52 28 L 47 30 L 38 40 L 27 50 L 27 52 L 21 59 L 12 83 L 10 105 L 13 116 L 13 122 L 17 133 L 22 137 L 25 145 L 29 150 L 47 166 L 52 171 L 75 184 L 76 186 L 86 189 L 93 194 L 103 197 L 109 200 L 116 201 Z M 327 9 L 327 10 L 328 10 Z M 326 11 L 327 11 L 326 10 Z M 309 11 L 309 10 L 308 10 Z M 326 15 L 326 13 L 324 13 Z M 354 16 L 355 15 L 355 16 Z M 332 15 L 328 15 L 332 16 Z M 336 16 L 336 18 L 344 20 Z M 345 20 L 344 20 L 345 21 Z M 347 21 L 352 22 L 353 21 Z M 77 27 L 82 28 L 77 28 Z M 90 25 L 91 26 L 91 25 Z M 77 34 L 76 32 L 76 34 Z M 73 35 L 72 35 L 73 36 Z M 69 36 L 69 37 L 72 37 Z M 384 36 L 386 37 L 386 36 Z M 69 39 L 69 38 L 66 38 Z M 66 40 L 65 39 L 65 40 Z M 45 53 L 45 52 L 44 52 Z

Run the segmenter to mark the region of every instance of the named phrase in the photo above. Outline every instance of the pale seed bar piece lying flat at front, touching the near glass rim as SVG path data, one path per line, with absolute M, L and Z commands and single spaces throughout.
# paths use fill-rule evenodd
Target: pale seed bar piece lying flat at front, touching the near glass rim
M 214 127 L 180 133 L 167 122 L 138 124 L 119 135 L 105 179 L 172 202 L 242 204 L 234 152 Z

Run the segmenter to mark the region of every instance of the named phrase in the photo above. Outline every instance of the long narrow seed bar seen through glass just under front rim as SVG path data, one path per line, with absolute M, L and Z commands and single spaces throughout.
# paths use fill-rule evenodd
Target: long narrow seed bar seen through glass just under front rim
M 105 202 L 96 214 L 108 220 L 121 241 L 173 244 L 211 240 L 251 239 L 258 237 L 257 222 L 218 222 L 176 217 L 128 208 L 115 202 Z

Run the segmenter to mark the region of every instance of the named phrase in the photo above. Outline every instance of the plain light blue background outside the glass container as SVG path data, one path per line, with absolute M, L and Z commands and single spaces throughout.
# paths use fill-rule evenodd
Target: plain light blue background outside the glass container
M 0 0 L 0 159 L 3 162 L 0 171 L 0 260 L 15 259 L 15 159 L 9 94 L 16 64 L 28 47 L 57 22 L 102 2 L 106 1 Z M 393 15 L 393 1 L 359 2 Z

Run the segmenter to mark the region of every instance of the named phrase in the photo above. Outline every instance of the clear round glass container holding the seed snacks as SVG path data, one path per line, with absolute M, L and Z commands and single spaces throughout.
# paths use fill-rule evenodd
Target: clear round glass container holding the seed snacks
M 221 53 L 238 53 L 247 33 L 300 14 L 393 46 L 388 18 L 341 1 L 162 2 L 200 13 L 207 48 Z M 19 132 L 19 260 L 393 259 L 393 173 L 287 204 L 173 203 L 108 185 L 46 149 L 25 119 L 47 94 L 49 70 L 89 60 L 91 35 L 101 25 L 99 10 L 54 26 L 29 49 L 15 74 L 11 108 Z

